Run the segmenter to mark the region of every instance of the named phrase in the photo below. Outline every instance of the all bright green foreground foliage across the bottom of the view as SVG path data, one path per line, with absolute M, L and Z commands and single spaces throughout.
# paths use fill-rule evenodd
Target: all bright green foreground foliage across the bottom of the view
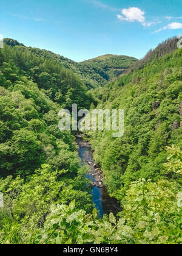
M 167 154 L 167 163 L 175 158 L 174 170 L 178 169 L 181 151 L 173 147 Z M 123 196 L 120 218 L 110 213 L 98 219 L 96 210 L 87 214 L 75 200 L 65 204 L 67 193 L 74 191 L 62 179 L 65 173 L 43 165 L 27 182 L 19 176 L 0 180 L 5 202 L 0 209 L 0 243 L 181 244 L 180 183 L 164 179 L 132 182 Z

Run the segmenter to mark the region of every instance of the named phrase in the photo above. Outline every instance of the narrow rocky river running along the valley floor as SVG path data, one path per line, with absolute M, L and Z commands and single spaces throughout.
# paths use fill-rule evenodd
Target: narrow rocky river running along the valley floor
M 88 141 L 83 140 L 81 136 L 76 136 L 76 143 L 79 146 L 78 152 L 82 165 L 86 163 L 90 166 L 90 172 L 86 175 L 87 179 L 92 182 L 92 198 L 99 217 L 103 218 L 104 214 L 113 213 L 116 215 L 121 212 L 120 204 L 109 196 L 106 187 L 103 185 L 103 175 L 100 168 L 96 168 L 93 160 L 92 148 Z

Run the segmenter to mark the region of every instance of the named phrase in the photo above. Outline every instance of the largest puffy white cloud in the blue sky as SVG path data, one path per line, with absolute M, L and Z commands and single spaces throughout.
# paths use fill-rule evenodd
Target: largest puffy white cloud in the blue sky
M 137 7 L 129 7 L 129 9 L 123 9 L 121 13 L 124 15 L 117 15 L 118 19 L 121 21 L 138 21 L 144 23 L 146 18 L 144 17 L 144 12 Z

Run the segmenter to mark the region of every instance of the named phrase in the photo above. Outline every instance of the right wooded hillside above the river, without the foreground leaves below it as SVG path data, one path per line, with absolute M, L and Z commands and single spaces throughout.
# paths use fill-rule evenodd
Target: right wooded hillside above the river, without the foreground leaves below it
M 110 193 L 121 198 L 140 178 L 177 180 L 164 171 L 163 163 L 166 146 L 182 146 L 182 50 L 154 56 L 143 69 L 93 94 L 100 100 L 98 108 L 124 109 L 123 138 L 113 138 L 112 132 L 89 133 Z

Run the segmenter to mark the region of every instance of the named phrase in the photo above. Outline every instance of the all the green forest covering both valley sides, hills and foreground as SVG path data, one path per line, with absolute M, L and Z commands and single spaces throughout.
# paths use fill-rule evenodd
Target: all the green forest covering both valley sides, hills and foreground
M 104 55 L 75 63 L 5 40 L 1 244 L 182 243 L 182 49 L 175 42 L 140 61 Z M 124 109 L 124 137 L 84 133 L 121 204 L 118 216 L 98 217 L 75 134 L 58 129 L 59 110 L 72 104 Z

